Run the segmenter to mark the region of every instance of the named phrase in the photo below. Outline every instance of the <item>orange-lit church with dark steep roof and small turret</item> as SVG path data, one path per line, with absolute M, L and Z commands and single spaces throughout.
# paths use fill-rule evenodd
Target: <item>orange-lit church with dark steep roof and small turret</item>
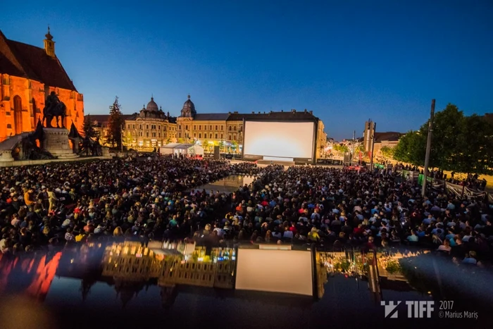
M 67 106 L 65 127 L 73 122 L 82 130 L 84 97 L 56 57 L 49 28 L 44 48 L 7 39 L 0 31 L 0 142 L 35 130 L 51 92 Z

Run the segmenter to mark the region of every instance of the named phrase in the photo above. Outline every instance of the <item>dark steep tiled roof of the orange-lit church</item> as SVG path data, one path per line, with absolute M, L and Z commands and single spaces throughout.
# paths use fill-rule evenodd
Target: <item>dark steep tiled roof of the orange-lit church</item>
M 47 55 L 44 49 L 37 46 L 9 40 L 1 31 L 0 73 L 36 80 L 49 87 L 77 91 L 56 56 Z

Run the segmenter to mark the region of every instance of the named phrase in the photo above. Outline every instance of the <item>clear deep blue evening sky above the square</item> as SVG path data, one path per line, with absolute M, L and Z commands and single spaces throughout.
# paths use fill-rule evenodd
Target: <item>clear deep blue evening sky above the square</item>
M 129 4 L 127 4 L 129 3 Z M 125 5 L 123 5 L 125 4 Z M 493 112 L 493 1 L 6 1 L 0 29 L 56 54 L 85 113 L 312 110 L 331 137 L 418 128 L 430 101 Z

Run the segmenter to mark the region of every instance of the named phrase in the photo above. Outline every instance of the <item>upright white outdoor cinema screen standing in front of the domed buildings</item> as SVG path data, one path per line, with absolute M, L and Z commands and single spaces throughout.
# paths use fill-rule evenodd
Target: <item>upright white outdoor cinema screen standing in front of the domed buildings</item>
M 314 126 L 313 122 L 245 120 L 243 154 L 312 159 Z

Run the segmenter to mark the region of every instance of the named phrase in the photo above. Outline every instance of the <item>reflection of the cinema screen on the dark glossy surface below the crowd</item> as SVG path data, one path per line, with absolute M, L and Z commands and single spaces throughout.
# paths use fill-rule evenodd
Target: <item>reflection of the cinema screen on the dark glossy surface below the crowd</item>
M 311 252 L 238 249 L 235 289 L 313 296 Z

